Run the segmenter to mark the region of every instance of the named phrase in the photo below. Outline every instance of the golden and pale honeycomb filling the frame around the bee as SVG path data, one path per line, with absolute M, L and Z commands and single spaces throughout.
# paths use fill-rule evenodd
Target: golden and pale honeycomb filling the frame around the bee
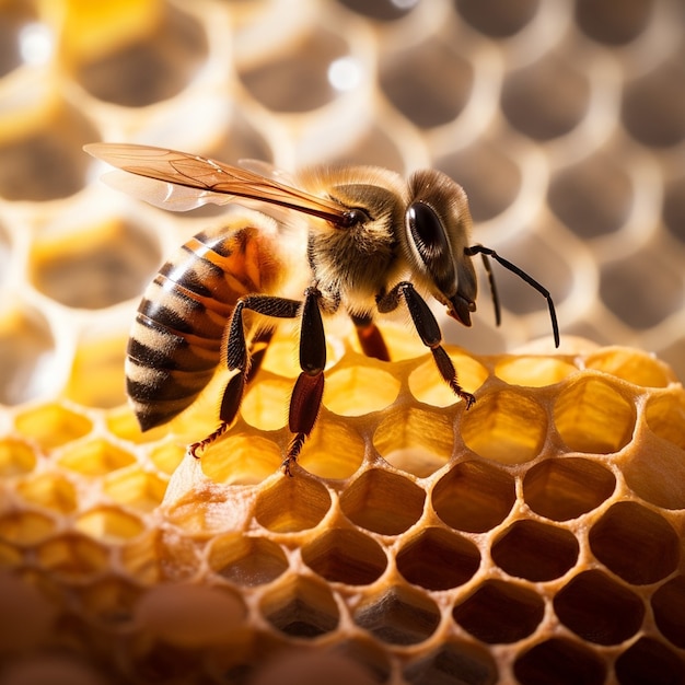
M 685 682 L 685 15 L 680 0 L 0 0 L 0 684 Z M 440 317 L 332 330 L 279 465 L 279 332 L 200 461 L 221 373 L 141 433 L 140 294 L 227 221 L 100 183 L 146 142 L 279 167 L 434 166 L 497 271 Z M 649 351 L 646 351 L 649 350 Z

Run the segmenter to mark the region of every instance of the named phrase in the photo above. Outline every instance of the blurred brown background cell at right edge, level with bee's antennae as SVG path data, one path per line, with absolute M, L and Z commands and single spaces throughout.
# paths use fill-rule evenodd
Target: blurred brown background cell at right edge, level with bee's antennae
M 630 327 L 651 328 L 683 309 L 683 272 L 660 249 L 647 246 L 602 268 L 600 297 Z

